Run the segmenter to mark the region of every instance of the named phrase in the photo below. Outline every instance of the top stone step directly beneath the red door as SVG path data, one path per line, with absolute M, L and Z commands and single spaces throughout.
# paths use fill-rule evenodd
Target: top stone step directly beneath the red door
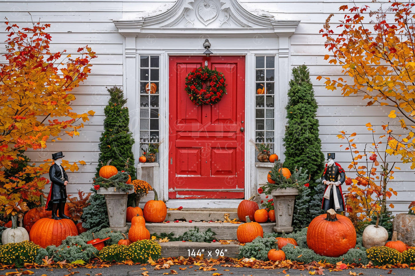
M 216 221 L 216 220 L 225 220 L 225 213 L 229 214 L 229 219 L 233 220 L 238 218 L 237 209 L 181 209 L 181 210 L 167 210 L 166 220 L 192 220 L 192 221 Z

